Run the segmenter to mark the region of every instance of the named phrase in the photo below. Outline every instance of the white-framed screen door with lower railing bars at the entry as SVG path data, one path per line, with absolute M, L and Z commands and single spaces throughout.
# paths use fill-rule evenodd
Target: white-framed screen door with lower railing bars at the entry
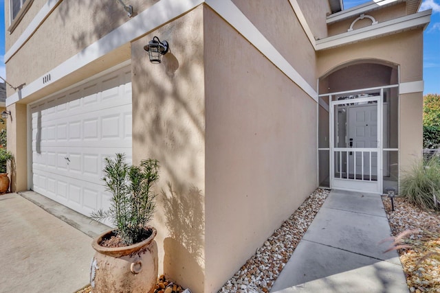
M 381 97 L 331 102 L 331 188 L 382 189 Z

